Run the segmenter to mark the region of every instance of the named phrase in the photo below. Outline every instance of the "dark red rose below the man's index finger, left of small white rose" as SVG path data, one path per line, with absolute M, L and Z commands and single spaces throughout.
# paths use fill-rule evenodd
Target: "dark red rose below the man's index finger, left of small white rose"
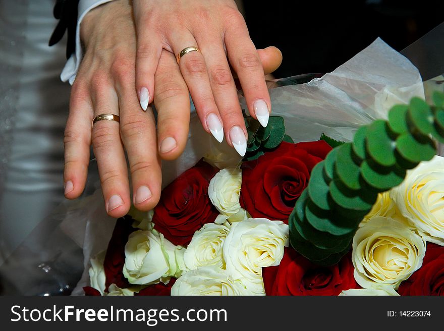
M 154 228 L 175 245 L 187 245 L 218 211 L 208 198 L 208 184 L 218 169 L 200 160 L 162 190 L 154 208 Z

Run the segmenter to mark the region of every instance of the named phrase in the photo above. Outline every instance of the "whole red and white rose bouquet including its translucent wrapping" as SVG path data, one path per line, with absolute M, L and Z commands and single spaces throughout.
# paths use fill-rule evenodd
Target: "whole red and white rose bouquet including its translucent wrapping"
M 420 161 L 435 152 L 441 106 L 419 102 L 428 124 L 410 106 L 387 114 L 427 95 L 417 69 L 376 40 L 334 72 L 269 87 L 278 116 L 262 128 L 245 114 L 244 159 L 192 115 L 154 210 L 107 216 L 90 167 L 84 197 L 60 206 L 2 277 L 26 294 L 440 293 L 442 166 Z

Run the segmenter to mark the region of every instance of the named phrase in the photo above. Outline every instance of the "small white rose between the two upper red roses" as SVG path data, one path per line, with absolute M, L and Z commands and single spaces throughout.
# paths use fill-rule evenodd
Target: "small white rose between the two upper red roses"
M 227 219 L 230 223 L 239 222 L 248 218 L 247 212 L 239 203 L 241 185 L 242 171 L 239 168 L 222 169 L 211 179 L 208 196 L 220 212 L 215 223 L 224 223 Z

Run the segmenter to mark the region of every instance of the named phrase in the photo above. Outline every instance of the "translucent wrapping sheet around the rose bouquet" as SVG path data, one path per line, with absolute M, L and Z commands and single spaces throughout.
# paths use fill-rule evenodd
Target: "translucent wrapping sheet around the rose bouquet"
M 268 82 L 268 86 L 272 113 L 284 117 L 286 133 L 295 142 L 318 140 L 322 133 L 337 140 L 350 141 L 360 126 L 375 119 L 386 119 L 392 105 L 408 103 L 413 96 L 424 98 L 418 70 L 380 39 L 334 72 L 323 76 L 289 77 Z M 246 108 L 244 98 L 241 96 L 240 99 Z M 162 163 L 162 186 L 171 183 L 208 153 L 220 155 L 215 164 L 219 168 L 239 162 L 234 150 L 225 142 L 215 142 L 193 114 L 184 153 L 175 161 Z M 75 286 L 80 279 L 72 294 L 83 294 L 82 287 L 89 285 L 90 258 L 106 249 L 115 222 L 105 213 L 97 175 L 89 177 L 89 185 L 90 190 L 84 197 L 61 206 L 41 225 L 41 230 L 36 230 L 41 233 L 34 232 L 1 267 L 1 277 L 8 280 L 5 284 L 10 284 L 6 286 L 20 289 L 19 293 L 23 294 L 42 294 L 44 291 L 39 287 L 25 286 L 27 293 L 21 287 L 24 283 L 46 280 L 42 284 L 56 289 L 49 290 L 50 294 L 56 294 L 64 292 L 60 291 L 60 282 L 66 288 Z M 31 248 L 32 237 L 36 236 L 46 236 L 47 240 L 37 241 Z M 29 254 L 31 250 L 33 254 Z M 50 272 L 40 274 L 39 265 L 48 263 L 58 266 L 60 279 L 50 277 Z M 17 278 L 15 275 L 19 271 L 24 274 Z M 53 284 L 49 284 L 51 282 Z

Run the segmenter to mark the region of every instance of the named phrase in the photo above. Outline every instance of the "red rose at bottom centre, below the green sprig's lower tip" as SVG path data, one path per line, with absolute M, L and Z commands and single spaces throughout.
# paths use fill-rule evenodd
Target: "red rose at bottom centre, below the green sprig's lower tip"
M 344 290 L 359 288 L 353 277 L 351 255 L 338 264 L 321 267 L 313 264 L 292 248 L 285 248 L 279 266 L 262 268 L 267 295 L 339 295 Z

